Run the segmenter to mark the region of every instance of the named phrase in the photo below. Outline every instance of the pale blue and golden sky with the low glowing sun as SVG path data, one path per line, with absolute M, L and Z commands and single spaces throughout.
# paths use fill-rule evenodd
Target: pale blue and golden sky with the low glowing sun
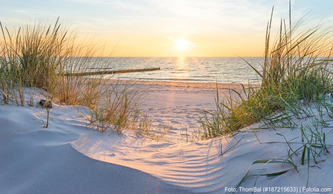
M 29 20 L 60 20 L 79 37 L 106 43 L 112 56 L 262 56 L 272 32 L 289 18 L 289 0 L 0 0 L 10 30 Z M 331 0 L 292 0 L 291 18 L 305 25 L 333 19 Z

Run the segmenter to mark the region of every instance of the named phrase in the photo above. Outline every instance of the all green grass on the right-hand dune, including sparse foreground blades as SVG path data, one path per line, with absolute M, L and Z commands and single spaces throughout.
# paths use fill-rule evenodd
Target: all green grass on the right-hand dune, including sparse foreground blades
M 219 101 L 217 89 L 216 109 L 201 110 L 203 117 L 199 120 L 201 129 L 198 131 L 202 133 L 201 139 L 232 135 L 258 122 L 261 125 L 254 130 L 285 128 L 299 131 L 300 138 L 291 140 L 276 133 L 285 139 L 287 155 L 254 161 L 235 188 L 247 177 L 256 177 L 255 186 L 260 176 L 278 176 L 292 169 L 298 172 L 299 163 L 295 160 L 307 165 L 305 185 L 308 187 L 310 167 L 315 167 L 318 160 L 325 161 L 324 156 L 329 152 L 326 139 L 332 129 L 323 115 L 329 115 L 332 119 L 332 105 L 325 102 L 327 93 L 333 91 L 332 28 L 318 23 L 304 30 L 302 23 L 306 19 L 302 18 L 293 25 L 291 13 L 289 21 L 281 19 L 271 46 L 271 16 L 267 25 L 262 70 L 255 69 L 244 60 L 257 73 L 260 81 L 249 83 L 248 88 L 242 85 L 241 92 L 229 89 L 230 95 L 222 101 Z M 298 125 L 293 119 L 308 119 L 310 124 Z M 299 139 L 301 141 L 294 142 Z M 299 146 L 292 148 L 291 144 Z M 262 167 L 255 174 L 250 174 L 251 168 L 258 164 L 262 164 Z M 262 174 L 261 170 L 270 168 L 271 164 L 290 165 L 290 168 Z

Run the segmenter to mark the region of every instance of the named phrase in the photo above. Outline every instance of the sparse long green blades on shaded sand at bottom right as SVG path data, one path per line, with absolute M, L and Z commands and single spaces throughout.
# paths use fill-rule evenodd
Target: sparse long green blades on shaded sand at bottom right
M 326 144 L 327 135 L 333 131 L 332 126 L 329 126 L 328 121 L 332 121 L 332 111 L 333 107 L 331 104 L 325 102 L 325 96 L 322 99 L 312 102 L 310 106 L 304 106 L 302 108 L 302 113 L 299 109 L 293 110 L 282 110 L 281 115 L 288 115 L 288 118 L 296 120 L 308 120 L 307 123 L 296 124 L 294 121 L 289 122 L 288 119 L 275 119 L 270 125 L 271 128 L 283 128 L 284 130 L 296 130 L 299 132 L 298 137 L 292 139 L 287 139 L 282 133 L 275 133 L 280 137 L 283 137 L 285 142 L 266 142 L 266 143 L 285 143 L 287 154 L 285 156 L 280 156 L 277 158 L 265 158 L 255 160 L 248 171 L 245 173 L 241 181 L 236 185 L 236 187 L 241 186 L 241 184 L 249 177 L 256 177 L 254 185 L 260 176 L 278 176 L 282 175 L 292 169 L 296 172 L 298 171 L 299 165 L 306 165 L 307 168 L 307 178 L 304 181 L 304 186 L 308 187 L 311 182 L 310 168 L 320 168 L 319 163 L 324 162 L 329 156 L 328 145 Z M 296 115 L 307 115 L 302 117 L 296 117 Z M 328 120 L 327 120 L 328 119 Z M 287 122 L 286 122 L 287 121 Z M 280 131 L 283 132 L 283 131 Z M 251 170 L 257 165 L 262 164 L 258 169 L 259 171 Z M 262 174 L 262 169 L 274 171 L 272 164 L 284 165 L 285 170 L 280 170 L 278 172 L 265 173 Z

